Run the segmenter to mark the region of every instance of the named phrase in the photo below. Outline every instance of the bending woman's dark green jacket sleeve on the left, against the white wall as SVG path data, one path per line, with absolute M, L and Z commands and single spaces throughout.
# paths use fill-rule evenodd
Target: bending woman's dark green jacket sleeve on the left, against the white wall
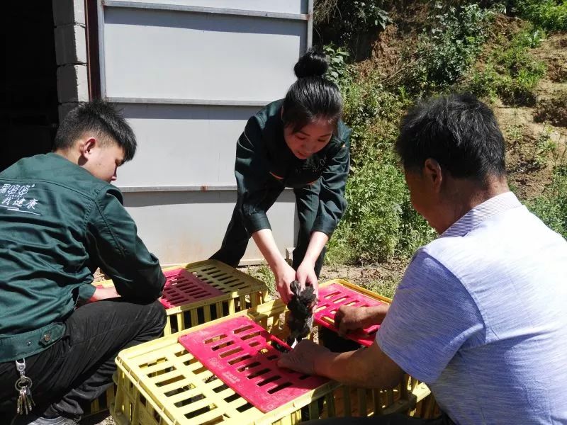
M 236 145 L 235 176 L 238 189 L 237 207 L 248 234 L 270 229 L 266 211 L 272 194 L 266 188 L 269 169 L 266 164 L 262 131 L 256 118 L 248 120 Z

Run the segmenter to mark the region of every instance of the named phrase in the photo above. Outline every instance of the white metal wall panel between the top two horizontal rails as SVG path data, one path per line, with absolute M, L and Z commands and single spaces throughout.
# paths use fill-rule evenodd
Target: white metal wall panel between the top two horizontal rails
M 128 8 L 104 31 L 108 96 L 263 103 L 293 83 L 306 38 L 302 21 Z

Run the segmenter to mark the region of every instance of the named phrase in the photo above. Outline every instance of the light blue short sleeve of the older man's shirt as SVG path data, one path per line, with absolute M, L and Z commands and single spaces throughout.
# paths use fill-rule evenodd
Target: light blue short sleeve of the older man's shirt
M 431 383 L 461 346 L 484 339 L 481 313 L 460 280 L 418 251 L 378 329 L 378 346 L 406 373 Z

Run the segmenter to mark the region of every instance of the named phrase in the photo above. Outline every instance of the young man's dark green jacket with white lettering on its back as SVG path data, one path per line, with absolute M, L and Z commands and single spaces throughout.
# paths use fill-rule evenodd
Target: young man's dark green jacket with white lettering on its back
M 0 362 L 60 339 L 98 267 L 126 297 L 155 300 L 165 283 L 118 188 L 58 154 L 0 174 L 0 239 Z

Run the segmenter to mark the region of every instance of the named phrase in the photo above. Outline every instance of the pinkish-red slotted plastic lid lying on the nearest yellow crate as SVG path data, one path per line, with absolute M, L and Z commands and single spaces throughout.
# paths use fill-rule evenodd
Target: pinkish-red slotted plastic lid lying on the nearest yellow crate
M 195 358 L 242 398 L 270 412 L 328 382 L 279 368 L 281 353 L 271 346 L 283 341 L 248 317 L 235 317 L 179 337 Z

